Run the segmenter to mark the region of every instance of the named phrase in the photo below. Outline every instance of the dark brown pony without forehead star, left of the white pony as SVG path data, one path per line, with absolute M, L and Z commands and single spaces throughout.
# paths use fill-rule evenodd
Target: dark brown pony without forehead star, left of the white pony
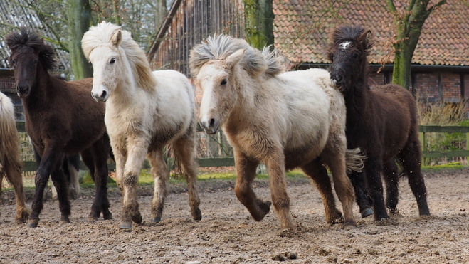
M 60 221 L 70 222 L 68 186 L 61 163 L 64 155 L 75 153 L 81 154 L 95 179 L 95 201 L 89 218 L 97 219 L 101 212 L 105 219 L 112 218 L 107 201 L 110 142 L 104 123 L 105 105 L 90 97 L 93 79 L 68 83 L 50 75 L 48 70 L 55 66 L 53 48 L 26 28 L 9 33 L 5 41 L 11 49 L 9 62 L 24 107 L 26 132 L 41 156 L 28 226 L 38 225 L 49 175 L 57 189 Z

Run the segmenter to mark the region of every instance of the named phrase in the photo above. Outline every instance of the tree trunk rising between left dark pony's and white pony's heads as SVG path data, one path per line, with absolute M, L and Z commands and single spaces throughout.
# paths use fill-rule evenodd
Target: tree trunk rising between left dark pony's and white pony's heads
M 91 7 L 89 0 L 69 0 L 70 60 L 75 80 L 93 77 L 93 69 L 83 56 L 81 38 L 90 28 Z

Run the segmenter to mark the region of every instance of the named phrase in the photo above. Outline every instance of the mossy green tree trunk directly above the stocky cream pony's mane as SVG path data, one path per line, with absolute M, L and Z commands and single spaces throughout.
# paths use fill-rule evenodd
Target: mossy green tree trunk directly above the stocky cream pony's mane
M 246 41 L 258 49 L 273 46 L 273 0 L 243 0 Z

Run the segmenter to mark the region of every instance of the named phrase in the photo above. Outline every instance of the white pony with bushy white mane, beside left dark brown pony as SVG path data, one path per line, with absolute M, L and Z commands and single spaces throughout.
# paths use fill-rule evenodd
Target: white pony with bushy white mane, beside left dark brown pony
M 132 221 L 142 221 L 137 181 L 145 154 L 154 177 L 151 222 L 161 220 L 169 178 L 163 148 L 168 144 L 181 160 L 192 217 L 200 220 L 194 159 L 194 88 L 189 80 L 175 70 L 152 73 L 144 51 L 130 32 L 112 23 L 90 27 L 83 36 L 82 48 L 93 63 L 92 95 L 98 102 L 106 102 L 105 123 L 123 196 L 120 228 L 130 229 Z

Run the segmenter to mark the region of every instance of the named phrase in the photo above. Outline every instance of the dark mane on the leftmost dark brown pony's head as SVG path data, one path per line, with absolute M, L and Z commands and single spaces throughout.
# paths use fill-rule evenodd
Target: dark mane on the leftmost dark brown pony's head
M 11 31 L 5 36 L 5 43 L 11 49 L 12 54 L 23 47 L 32 48 L 34 51 L 38 51 L 39 61 L 46 70 L 56 68 L 56 51 L 53 47 L 44 43 L 37 33 L 29 31 L 24 26 L 21 26 L 19 31 Z M 9 57 L 9 64 L 12 65 L 11 56 Z

